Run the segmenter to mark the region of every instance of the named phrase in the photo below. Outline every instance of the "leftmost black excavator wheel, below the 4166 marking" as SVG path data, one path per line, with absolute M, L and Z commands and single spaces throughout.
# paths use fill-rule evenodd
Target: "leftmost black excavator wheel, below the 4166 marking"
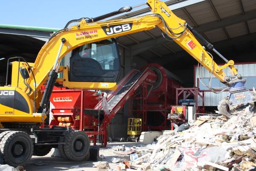
M 25 132 L 9 131 L 3 136 L 0 148 L 5 164 L 24 166 L 32 157 L 33 142 Z

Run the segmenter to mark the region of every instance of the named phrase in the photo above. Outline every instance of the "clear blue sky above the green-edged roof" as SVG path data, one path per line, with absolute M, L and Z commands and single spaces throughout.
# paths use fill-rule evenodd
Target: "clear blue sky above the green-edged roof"
M 144 2 L 146 0 L 3 0 L 0 24 L 63 28 L 69 20 L 97 17 Z

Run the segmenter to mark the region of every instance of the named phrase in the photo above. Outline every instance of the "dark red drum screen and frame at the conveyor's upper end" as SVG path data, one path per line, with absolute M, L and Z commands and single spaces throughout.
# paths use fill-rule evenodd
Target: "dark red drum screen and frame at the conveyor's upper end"
M 151 90 L 148 85 L 143 83 L 140 86 L 140 94 L 137 93 L 129 101 L 129 113 L 128 117 L 140 118 L 142 117 L 142 131 L 150 130 L 167 130 L 169 129 L 167 116 L 171 106 L 175 104 L 175 88 L 181 87 L 177 81 L 170 78 L 170 73 L 159 64 L 147 64 L 141 70 L 145 68 L 151 70 L 159 70 L 162 75 L 162 82 L 156 89 Z M 159 76 L 159 75 L 158 75 Z M 138 96 L 140 95 L 140 96 Z M 137 104 L 136 109 L 133 109 L 133 105 Z M 159 116 L 154 116 L 154 121 L 160 123 L 157 126 L 148 126 L 149 117 L 153 117 L 149 112 L 158 113 L 163 116 L 160 119 Z

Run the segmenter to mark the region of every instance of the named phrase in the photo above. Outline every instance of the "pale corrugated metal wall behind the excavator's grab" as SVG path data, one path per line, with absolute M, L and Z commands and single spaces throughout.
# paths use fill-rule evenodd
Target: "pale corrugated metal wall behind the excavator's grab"
M 238 73 L 242 75 L 243 78 L 247 78 L 246 87 L 252 88 L 256 87 L 256 64 L 236 64 L 235 67 L 238 69 Z M 224 69 L 224 72 L 227 75 L 231 75 L 229 72 L 229 69 Z M 208 85 L 208 81 L 210 78 L 211 73 L 204 67 L 199 67 L 199 77 L 201 80 L 204 80 L 204 82 Z M 201 90 L 209 90 L 206 88 L 203 84 L 199 82 L 199 85 L 197 85 L 198 80 L 198 67 L 195 67 L 195 86 L 199 87 Z M 214 75 L 212 75 L 212 87 L 222 87 L 224 84 L 222 84 L 217 78 L 215 78 Z M 222 92 L 222 93 L 213 93 L 213 92 L 205 92 L 204 93 L 204 105 L 205 106 L 217 106 L 218 102 L 226 97 L 228 95 L 228 92 Z M 198 97 L 199 106 L 202 106 L 202 100 Z

